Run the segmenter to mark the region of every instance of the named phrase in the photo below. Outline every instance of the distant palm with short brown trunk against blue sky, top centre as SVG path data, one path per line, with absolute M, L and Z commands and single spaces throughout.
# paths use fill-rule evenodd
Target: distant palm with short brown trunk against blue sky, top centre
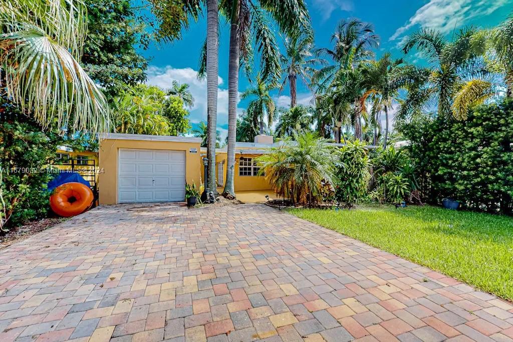
M 307 86 L 311 82 L 313 67 L 322 63 L 319 58 L 311 58 L 313 49 L 313 36 L 309 31 L 299 31 L 285 38 L 285 55 L 281 55 L 282 69 L 285 71 L 283 90 L 288 82 L 290 89 L 290 108 L 297 104 L 298 77 Z

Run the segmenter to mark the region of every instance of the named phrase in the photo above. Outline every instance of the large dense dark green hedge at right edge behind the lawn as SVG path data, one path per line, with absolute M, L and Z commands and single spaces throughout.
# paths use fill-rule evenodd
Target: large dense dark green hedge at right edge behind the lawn
M 429 202 L 452 197 L 480 211 L 513 213 L 513 100 L 474 108 L 465 121 L 418 116 L 400 125 Z

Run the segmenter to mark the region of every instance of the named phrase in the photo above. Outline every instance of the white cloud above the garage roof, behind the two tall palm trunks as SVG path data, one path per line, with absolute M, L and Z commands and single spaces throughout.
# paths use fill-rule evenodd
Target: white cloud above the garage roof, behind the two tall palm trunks
M 207 80 L 199 80 L 198 72 L 192 68 L 177 69 L 170 66 L 159 68 L 148 67 L 147 84 L 168 89 L 173 81 L 187 83 L 192 96 L 194 96 L 194 107 L 190 111 L 192 123 L 199 123 L 207 120 Z M 223 79 L 219 77 L 219 85 L 223 85 Z M 218 127 L 228 123 L 228 90 L 218 90 Z

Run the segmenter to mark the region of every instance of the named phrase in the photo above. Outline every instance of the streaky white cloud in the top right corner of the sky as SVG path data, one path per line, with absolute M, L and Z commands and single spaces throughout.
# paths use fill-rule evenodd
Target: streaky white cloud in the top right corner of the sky
M 408 22 L 398 28 L 390 41 L 401 38 L 410 29 L 424 27 L 449 33 L 473 18 L 489 15 L 511 0 L 430 0 Z

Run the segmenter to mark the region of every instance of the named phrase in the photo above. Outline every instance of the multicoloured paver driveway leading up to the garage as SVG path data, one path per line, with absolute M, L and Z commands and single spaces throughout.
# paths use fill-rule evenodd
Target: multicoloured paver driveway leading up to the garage
M 513 337 L 505 301 L 263 205 L 96 208 L 0 251 L 0 291 L 1 342 Z

